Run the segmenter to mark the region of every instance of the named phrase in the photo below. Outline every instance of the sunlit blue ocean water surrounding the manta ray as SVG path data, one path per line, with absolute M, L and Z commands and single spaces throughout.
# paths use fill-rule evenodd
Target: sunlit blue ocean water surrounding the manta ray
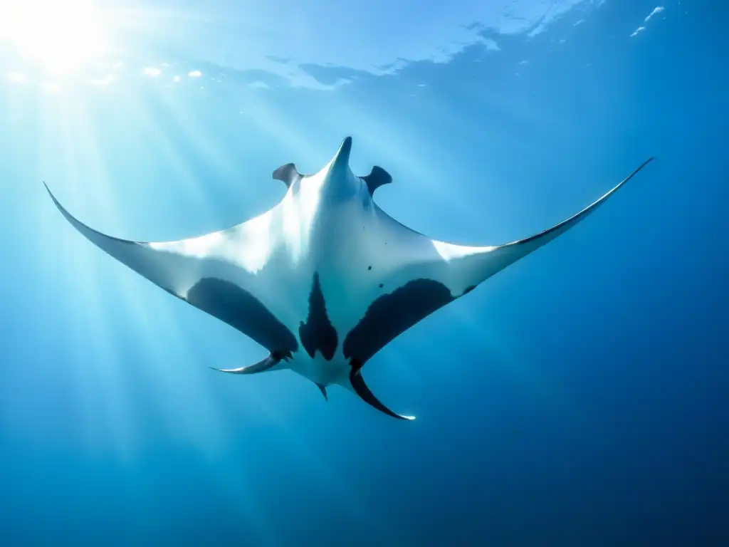
M 728 9 L 5 0 L 0 544 L 729 545 Z M 31 9 L 32 8 L 32 9 Z M 93 14 L 96 14 L 95 16 Z M 94 18 L 95 17 L 95 18 Z M 96 249 L 351 166 L 445 241 L 576 228 L 324 402 Z

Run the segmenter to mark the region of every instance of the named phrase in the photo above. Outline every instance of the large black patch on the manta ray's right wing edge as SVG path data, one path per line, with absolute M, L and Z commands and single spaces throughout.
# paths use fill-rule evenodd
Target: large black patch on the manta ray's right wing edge
M 382 295 L 344 339 L 344 357 L 366 362 L 399 334 L 456 300 L 444 284 L 415 279 Z

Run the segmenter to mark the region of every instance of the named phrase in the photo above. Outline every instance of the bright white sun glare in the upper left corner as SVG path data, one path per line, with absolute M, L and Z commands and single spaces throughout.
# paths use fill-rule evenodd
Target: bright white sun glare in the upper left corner
M 9 42 L 47 71 L 73 71 L 106 51 L 104 21 L 89 0 L 5 0 L 3 4 L 0 42 Z

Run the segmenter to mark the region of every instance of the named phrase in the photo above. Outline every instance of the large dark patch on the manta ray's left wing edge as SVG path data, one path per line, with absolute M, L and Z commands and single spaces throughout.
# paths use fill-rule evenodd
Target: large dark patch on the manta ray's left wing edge
M 187 292 L 187 302 L 249 336 L 269 352 L 285 357 L 299 348 L 295 335 L 250 292 L 206 277 Z

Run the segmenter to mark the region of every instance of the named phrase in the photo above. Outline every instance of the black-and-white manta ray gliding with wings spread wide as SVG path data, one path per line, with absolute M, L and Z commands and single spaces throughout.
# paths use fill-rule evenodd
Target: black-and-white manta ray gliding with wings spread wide
M 356 176 L 346 137 L 318 173 L 293 163 L 273 171 L 286 185 L 267 212 L 232 228 L 178 241 L 107 236 L 79 222 L 48 189 L 61 213 L 91 243 L 176 298 L 211 314 L 268 350 L 233 374 L 289 369 L 324 399 L 338 385 L 379 411 L 391 411 L 362 367 L 421 319 L 472 291 L 594 212 L 645 161 L 590 206 L 558 225 L 511 243 L 468 247 L 411 230 L 373 201 L 392 177 L 379 166 Z M 45 185 L 45 182 L 44 182 Z

